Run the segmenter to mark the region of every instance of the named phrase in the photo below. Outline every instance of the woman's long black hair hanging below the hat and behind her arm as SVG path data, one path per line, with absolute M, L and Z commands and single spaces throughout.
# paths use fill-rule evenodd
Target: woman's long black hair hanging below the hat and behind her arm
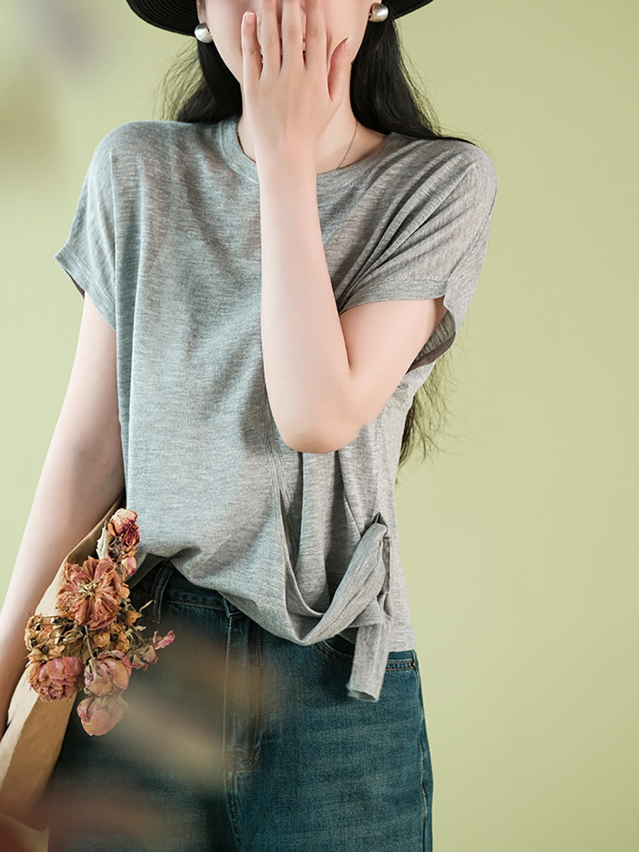
M 215 42 L 197 43 L 197 55 L 189 43 L 176 57 L 164 78 L 161 118 L 215 124 L 242 113 L 242 92 Z M 461 136 L 444 135 L 429 100 L 417 90 L 406 71 L 400 39 L 389 10 L 383 23 L 371 23 L 353 61 L 350 102 L 355 118 L 370 130 L 414 136 L 417 139 L 451 139 L 477 143 Z M 423 458 L 432 447 L 441 450 L 435 434 L 446 420 L 446 396 L 442 379 L 448 371 L 450 349 L 440 355 L 428 381 L 418 389 L 406 414 L 398 469 L 420 446 Z

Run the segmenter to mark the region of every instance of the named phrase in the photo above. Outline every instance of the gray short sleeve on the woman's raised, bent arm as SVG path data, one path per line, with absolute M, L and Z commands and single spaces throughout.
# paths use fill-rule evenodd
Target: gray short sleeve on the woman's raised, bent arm
M 426 187 L 430 191 L 418 202 L 421 215 L 411 211 L 406 225 L 354 280 L 339 309 L 343 314 L 366 302 L 444 296 L 446 314 L 407 372 L 433 364 L 451 348 L 475 293 L 498 188 L 491 159 L 479 147 L 476 152 L 454 181 L 446 176 L 446 186 Z

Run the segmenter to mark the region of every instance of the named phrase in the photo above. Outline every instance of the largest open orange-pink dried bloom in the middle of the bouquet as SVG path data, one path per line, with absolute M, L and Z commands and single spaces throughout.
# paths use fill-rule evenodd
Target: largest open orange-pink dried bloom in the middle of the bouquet
M 82 566 L 66 562 L 57 607 L 78 625 L 103 630 L 117 617 L 120 601 L 128 596 L 129 587 L 120 579 L 115 562 L 89 556 Z

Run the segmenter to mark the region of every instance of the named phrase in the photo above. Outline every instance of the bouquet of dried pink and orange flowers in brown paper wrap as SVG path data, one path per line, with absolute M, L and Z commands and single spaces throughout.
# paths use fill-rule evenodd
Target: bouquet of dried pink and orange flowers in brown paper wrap
M 127 579 L 135 573 L 140 533 L 133 509 L 118 509 L 102 527 L 97 558 L 82 565 L 66 562 L 56 597 L 56 615 L 32 615 L 26 625 L 27 680 L 40 699 L 68 698 L 81 689 L 89 696 L 78 716 L 91 735 L 106 734 L 123 717 L 122 698 L 133 669 L 146 670 L 156 651 L 175 634 L 141 636 L 144 626 L 131 605 Z M 144 609 L 148 604 L 145 604 Z

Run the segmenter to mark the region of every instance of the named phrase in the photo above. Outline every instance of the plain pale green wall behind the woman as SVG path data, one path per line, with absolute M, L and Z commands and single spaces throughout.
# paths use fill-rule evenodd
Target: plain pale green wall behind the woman
M 98 141 L 158 116 L 189 43 L 124 0 L 3 12 L 2 594 L 82 312 L 53 255 Z M 399 22 L 444 129 L 499 179 L 452 437 L 397 488 L 436 852 L 639 848 L 637 19 L 436 0 Z

